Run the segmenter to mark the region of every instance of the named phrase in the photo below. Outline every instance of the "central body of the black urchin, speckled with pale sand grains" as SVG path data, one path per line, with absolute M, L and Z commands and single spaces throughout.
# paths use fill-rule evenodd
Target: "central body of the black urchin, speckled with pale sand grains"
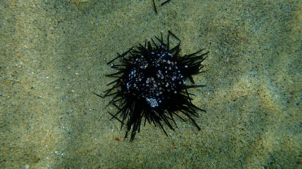
M 184 76 L 168 51 L 142 52 L 130 59 L 131 69 L 123 78 L 124 89 L 150 107 L 160 106 L 184 85 Z

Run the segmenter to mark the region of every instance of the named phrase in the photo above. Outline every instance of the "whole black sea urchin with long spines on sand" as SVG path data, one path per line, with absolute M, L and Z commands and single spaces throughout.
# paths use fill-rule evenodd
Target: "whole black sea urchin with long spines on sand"
M 174 116 L 185 121 L 180 116 L 181 113 L 191 119 L 200 130 L 192 116 L 198 116 L 196 110 L 205 110 L 191 102 L 190 95 L 193 94 L 187 89 L 204 85 L 186 85 L 185 79 L 188 78 L 194 84 L 192 75 L 201 73 L 201 62 L 208 52 L 198 55 L 202 49 L 180 57 L 180 41 L 170 49 L 169 35 L 179 40 L 169 31 L 167 43 L 164 43 L 163 36 L 161 39 L 156 37 L 158 44 L 151 39 L 152 43 L 145 42 L 144 45 L 139 44 L 137 49 L 132 47 L 125 53 L 118 54 L 118 57 L 107 63 L 117 70 L 116 73 L 107 75 L 117 78 L 108 84 L 114 84 L 113 87 L 106 90 L 104 96 L 94 93 L 100 97 L 113 96 L 108 105 L 115 106 L 117 112 L 109 112 L 111 119 L 120 121 L 121 128 L 127 121 L 125 138 L 131 130 L 130 141 L 134 139 L 136 132 L 139 132 L 143 117 L 144 124 L 148 121 L 160 125 L 167 136 L 162 121 L 174 130 L 174 125 L 177 127 Z M 117 59 L 120 59 L 121 63 L 113 64 Z

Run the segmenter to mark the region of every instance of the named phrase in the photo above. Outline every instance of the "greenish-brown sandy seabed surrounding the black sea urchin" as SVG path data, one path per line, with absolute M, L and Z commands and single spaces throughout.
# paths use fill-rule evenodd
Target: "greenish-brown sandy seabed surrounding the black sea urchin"
M 163 2 L 0 2 L 0 168 L 302 168 L 300 1 Z M 92 92 L 168 30 L 181 55 L 210 52 L 189 90 L 201 130 L 176 118 L 129 142 Z

